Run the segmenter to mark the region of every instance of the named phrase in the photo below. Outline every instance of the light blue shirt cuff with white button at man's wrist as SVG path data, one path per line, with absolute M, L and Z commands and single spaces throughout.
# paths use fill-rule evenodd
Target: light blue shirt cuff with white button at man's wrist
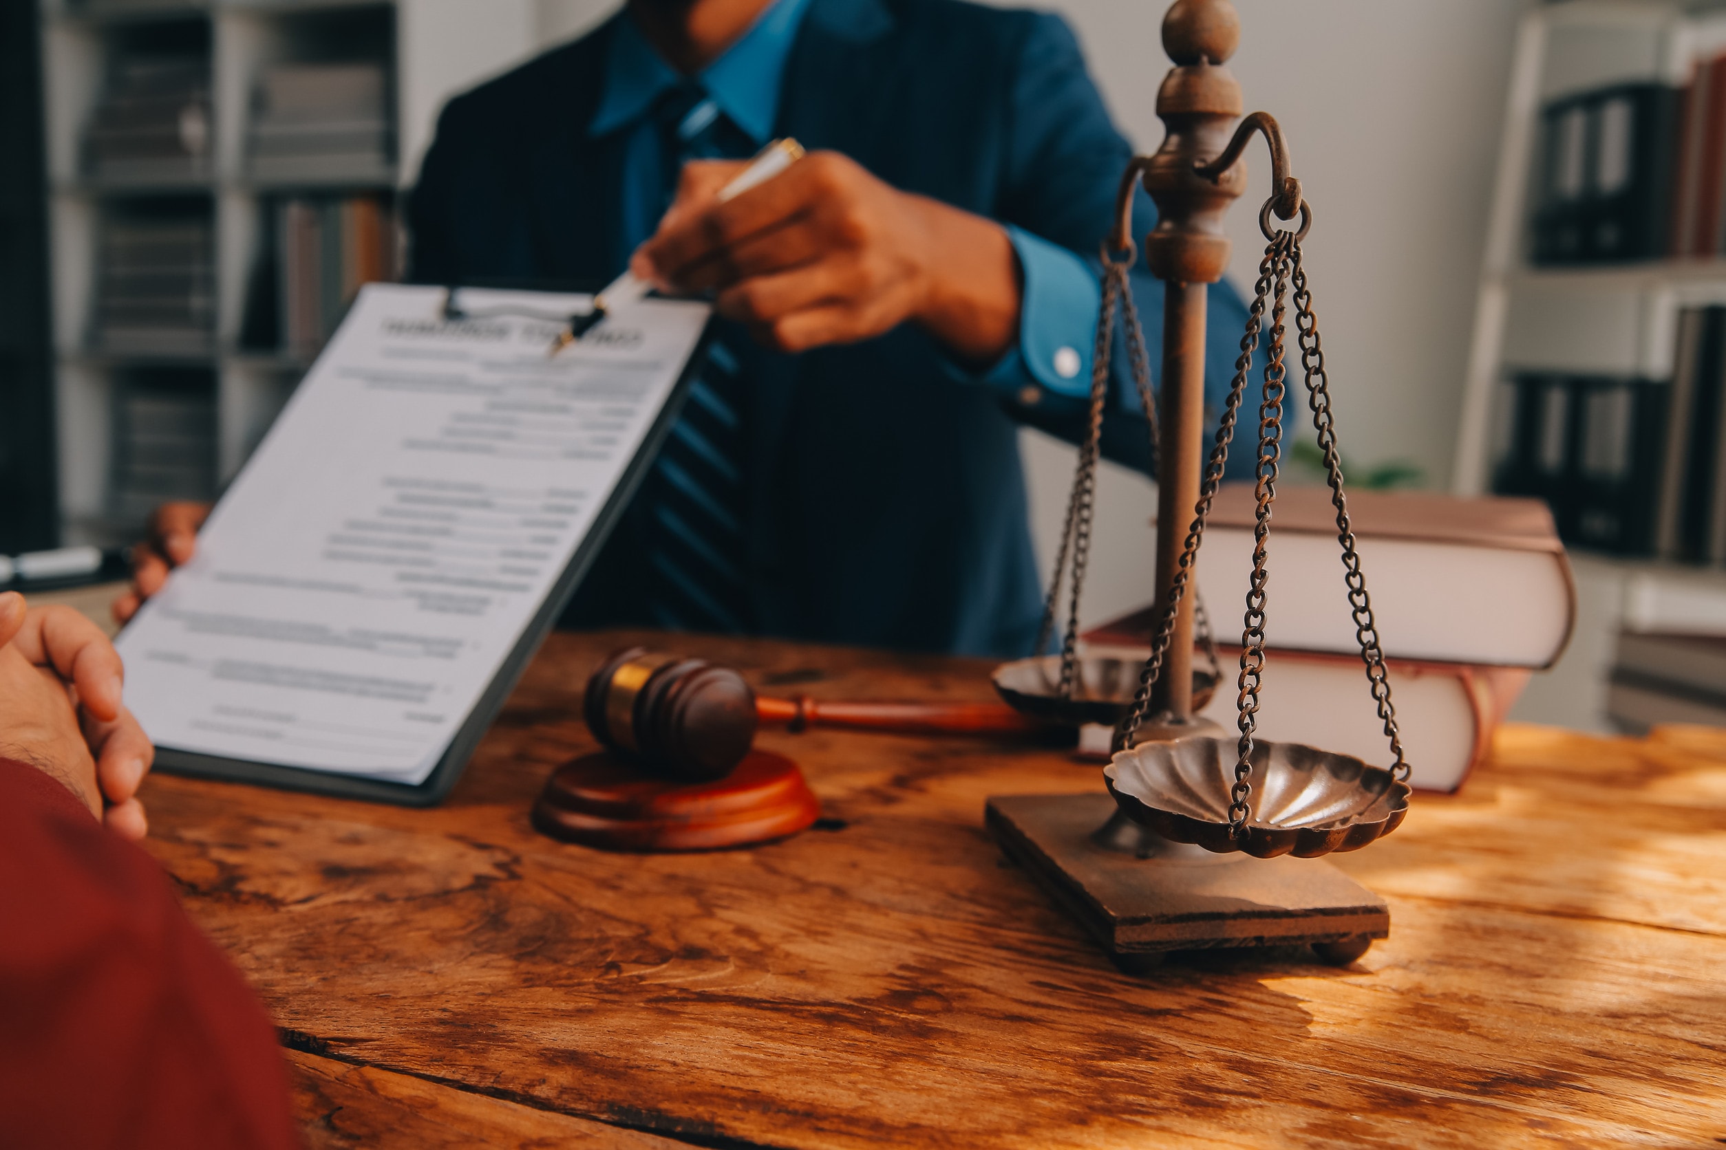
M 1096 272 L 1067 248 L 1011 224 L 1006 229 L 1022 276 L 1018 341 L 984 372 L 956 369 L 965 381 L 1003 391 L 1025 388 L 1084 397 L 1091 391 L 1091 345 L 1103 291 Z

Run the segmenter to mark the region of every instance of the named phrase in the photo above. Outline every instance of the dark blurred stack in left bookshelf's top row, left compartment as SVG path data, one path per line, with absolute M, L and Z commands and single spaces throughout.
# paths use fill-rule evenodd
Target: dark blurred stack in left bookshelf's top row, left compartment
M 211 174 L 211 69 L 202 57 L 116 64 L 85 134 L 90 174 L 178 183 Z

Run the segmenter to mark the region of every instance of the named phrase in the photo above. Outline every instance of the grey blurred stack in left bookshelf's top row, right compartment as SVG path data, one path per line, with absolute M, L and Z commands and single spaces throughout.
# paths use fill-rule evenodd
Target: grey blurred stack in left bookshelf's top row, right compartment
M 394 171 L 383 64 L 276 64 L 252 116 L 252 174 L 273 181 L 378 181 Z

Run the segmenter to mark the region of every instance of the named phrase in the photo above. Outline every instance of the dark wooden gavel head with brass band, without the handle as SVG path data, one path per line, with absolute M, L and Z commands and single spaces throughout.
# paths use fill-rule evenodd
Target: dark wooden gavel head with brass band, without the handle
M 754 745 L 754 691 L 730 667 L 632 647 L 587 681 L 587 729 L 675 778 L 720 779 Z

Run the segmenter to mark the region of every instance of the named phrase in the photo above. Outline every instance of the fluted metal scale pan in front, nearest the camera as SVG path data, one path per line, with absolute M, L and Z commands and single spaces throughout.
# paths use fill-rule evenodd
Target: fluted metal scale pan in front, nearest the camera
M 1103 767 L 1108 793 L 1129 819 L 1175 843 L 1258 859 L 1313 859 L 1360 850 L 1408 814 L 1408 784 L 1383 767 L 1300 743 L 1253 745 L 1251 821 L 1229 834 L 1236 740 L 1139 743 Z

